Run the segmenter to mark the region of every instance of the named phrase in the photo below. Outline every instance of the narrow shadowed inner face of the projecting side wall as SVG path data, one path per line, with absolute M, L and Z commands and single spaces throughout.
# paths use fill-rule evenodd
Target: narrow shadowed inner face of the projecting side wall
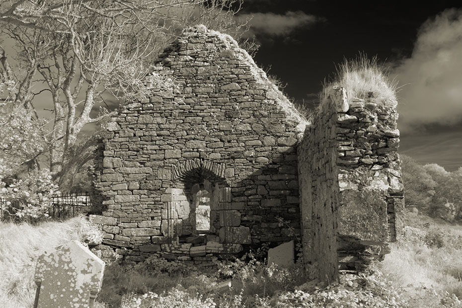
M 328 106 L 329 107 L 329 106 Z M 321 277 L 337 275 L 337 141 L 335 109 L 313 119 L 298 148 L 303 254 Z

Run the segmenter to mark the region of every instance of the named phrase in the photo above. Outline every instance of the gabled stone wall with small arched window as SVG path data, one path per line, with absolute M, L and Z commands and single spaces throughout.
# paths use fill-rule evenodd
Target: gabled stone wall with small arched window
M 188 29 L 160 59 L 156 73 L 176 91 L 153 91 L 106 126 L 95 181 L 105 209 L 92 217 L 103 244 L 127 261 L 157 252 L 206 263 L 300 234 L 307 122 L 227 35 Z

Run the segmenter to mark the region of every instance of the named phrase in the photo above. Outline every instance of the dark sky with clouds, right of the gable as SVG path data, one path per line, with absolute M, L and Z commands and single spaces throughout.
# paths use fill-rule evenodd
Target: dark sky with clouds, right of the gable
M 244 0 L 256 63 L 310 106 L 344 58 L 377 56 L 399 82 L 399 152 L 462 166 L 462 1 Z

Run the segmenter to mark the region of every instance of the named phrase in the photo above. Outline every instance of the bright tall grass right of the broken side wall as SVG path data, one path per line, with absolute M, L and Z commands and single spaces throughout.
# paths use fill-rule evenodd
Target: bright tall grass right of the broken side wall
M 384 273 L 402 289 L 409 307 L 462 307 L 442 304 L 445 297 L 462 299 L 462 230 L 424 215 L 408 223 L 385 256 Z

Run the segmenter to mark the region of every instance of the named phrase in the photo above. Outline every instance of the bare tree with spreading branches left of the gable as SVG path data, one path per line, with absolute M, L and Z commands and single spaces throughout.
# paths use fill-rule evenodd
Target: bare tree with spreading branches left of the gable
M 1 48 L 0 74 L 16 84 L 9 97 L 29 110 L 37 94 L 51 94 L 46 138 L 55 178 L 75 156 L 82 128 L 111 114 L 90 116 L 104 94 L 124 100 L 146 93 L 155 56 L 185 26 L 202 23 L 238 38 L 246 29 L 233 18 L 241 1 L 1 0 L 2 36 L 14 41 L 17 69 Z

